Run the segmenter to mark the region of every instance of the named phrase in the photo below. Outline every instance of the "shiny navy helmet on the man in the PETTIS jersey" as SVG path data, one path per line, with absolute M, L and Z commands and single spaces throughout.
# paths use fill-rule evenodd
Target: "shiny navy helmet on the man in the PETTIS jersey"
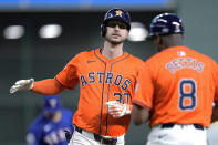
M 149 38 L 155 34 L 184 33 L 181 19 L 174 13 L 156 15 L 150 23 Z

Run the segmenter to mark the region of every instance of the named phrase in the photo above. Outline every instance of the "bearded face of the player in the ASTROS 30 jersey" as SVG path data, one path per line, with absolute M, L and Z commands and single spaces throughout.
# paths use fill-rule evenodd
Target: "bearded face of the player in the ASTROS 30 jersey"
M 121 21 L 108 21 L 106 24 L 106 35 L 105 40 L 112 44 L 123 43 L 127 35 L 127 25 Z

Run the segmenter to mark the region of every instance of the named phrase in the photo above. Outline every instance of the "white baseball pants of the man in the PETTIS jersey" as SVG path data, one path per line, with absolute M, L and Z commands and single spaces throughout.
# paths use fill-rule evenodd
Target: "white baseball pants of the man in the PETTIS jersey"
M 196 128 L 193 124 L 174 124 L 173 127 L 152 127 L 146 145 L 207 145 L 206 128 Z

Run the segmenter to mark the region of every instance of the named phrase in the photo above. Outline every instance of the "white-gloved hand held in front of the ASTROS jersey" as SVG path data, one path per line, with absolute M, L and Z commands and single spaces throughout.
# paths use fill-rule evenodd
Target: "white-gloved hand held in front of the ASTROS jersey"
M 131 105 L 128 104 L 122 104 L 117 101 L 110 101 L 106 104 L 108 105 L 108 113 L 115 118 L 131 114 Z

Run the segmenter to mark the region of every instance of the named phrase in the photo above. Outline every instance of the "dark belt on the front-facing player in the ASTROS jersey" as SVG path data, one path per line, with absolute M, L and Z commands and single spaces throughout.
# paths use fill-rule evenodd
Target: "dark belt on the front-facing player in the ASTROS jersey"
M 81 134 L 83 132 L 83 130 L 79 128 L 77 126 L 75 126 L 75 131 L 77 131 Z M 103 136 L 95 134 L 95 133 L 93 133 L 93 135 L 94 135 L 94 139 L 102 143 L 102 144 L 116 145 L 117 138 L 115 138 L 115 137 L 107 138 L 107 137 L 103 137 Z

